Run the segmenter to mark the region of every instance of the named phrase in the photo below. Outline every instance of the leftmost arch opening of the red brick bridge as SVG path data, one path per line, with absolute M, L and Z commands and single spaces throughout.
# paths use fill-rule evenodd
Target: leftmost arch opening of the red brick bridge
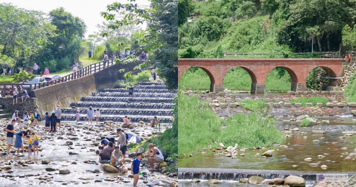
M 186 70 L 179 80 L 179 87 L 187 90 L 213 92 L 215 80 L 213 75 L 205 68 L 191 67 Z

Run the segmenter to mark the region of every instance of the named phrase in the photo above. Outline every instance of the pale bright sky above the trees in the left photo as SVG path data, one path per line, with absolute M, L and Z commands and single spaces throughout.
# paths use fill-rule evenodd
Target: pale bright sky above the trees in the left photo
M 0 3 L 12 3 L 18 8 L 28 10 L 38 10 L 49 13 L 51 10 L 63 7 L 65 11 L 81 18 L 87 25 L 86 38 L 88 35 L 98 32 L 97 24 L 101 24 L 105 19 L 100 12 L 106 11 L 106 6 L 113 2 L 127 3 L 127 0 L 0 0 Z M 148 0 L 136 0 L 137 5 L 150 5 Z M 140 7 L 144 8 L 144 7 Z M 146 24 L 140 26 L 146 28 Z

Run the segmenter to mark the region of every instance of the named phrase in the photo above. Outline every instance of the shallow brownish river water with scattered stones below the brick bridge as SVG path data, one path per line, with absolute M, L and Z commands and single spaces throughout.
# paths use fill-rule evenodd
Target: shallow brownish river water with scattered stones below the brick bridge
M 239 95 L 236 97 L 244 99 L 253 97 L 261 98 L 261 96 L 262 95 Z M 288 95 L 268 95 L 270 98 L 287 96 Z M 300 97 L 302 97 L 302 95 Z M 309 114 L 319 122 L 329 120 L 330 125 L 321 125 L 321 123 L 313 127 L 289 125 L 289 128 L 285 130 L 283 120 L 295 119 L 296 116 L 293 114 L 294 110 L 303 110 L 304 114 Z M 250 111 L 241 107 L 227 107 L 225 109 L 218 107 L 213 109 L 213 112 L 224 118 L 227 118 L 227 116 L 231 114 L 236 114 L 237 111 L 243 111 L 245 114 L 250 113 Z M 286 177 L 295 171 L 302 172 L 296 174 L 299 176 L 303 173 L 307 176 L 307 174 L 310 173 L 356 172 L 356 136 L 346 137 L 345 134 L 342 133 L 344 131 L 356 131 L 356 118 L 351 114 L 351 108 L 300 108 L 295 106 L 286 108 L 282 105 L 280 108 L 272 108 L 270 112 L 277 121 L 276 128 L 285 132 L 285 135 L 292 135 L 287 137 L 285 142 L 266 147 L 266 149 L 248 149 L 246 152 L 239 151 L 236 156 L 232 157 L 225 157 L 223 153 L 220 156 L 214 156 L 218 151 L 213 152 L 206 150 L 205 154 L 198 153 L 192 158 L 181 159 L 178 161 L 178 167 L 183 168 L 178 170 L 179 185 L 181 187 L 196 185 L 209 187 L 209 185 L 204 183 L 205 180 L 218 179 L 223 180 L 223 183 L 216 185 L 219 187 L 240 186 L 243 184 L 238 184 L 236 181 L 238 182 L 240 179 L 250 177 L 251 175 L 248 175 L 248 173 L 263 175 L 264 172 L 261 170 L 280 172 L 281 176 L 266 175 L 265 179 L 273 179 L 275 177 L 283 178 L 283 176 Z M 299 130 L 293 131 L 294 128 L 298 128 Z M 325 134 L 312 134 L 313 130 L 321 130 L 324 131 Z M 262 153 L 268 149 L 274 150 L 273 156 L 262 157 Z M 239 156 L 241 153 L 244 153 L 244 156 Z M 305 161 L 304 159 L 308 157 L 312 158 L 312 160 Z M 321 165 L 326 165 L 327 169 L 322 169 Z M 191 170 L 189 170 L 190 168 Z M 203 174 L 194 174 L 194 172 L 199 172 L 199 170 L 203 171 Z M 248 172 L 246 172 L 246 170 L 248 170 Z M 247 174 L 239 175 L 239 173 Z M 265 174 L 267 173 L 265 172 Z M 192 179 L 200 179 L 202 182 L 200 184 L 192 184 L 190 182 Z M 308 182 L 308 180 L 313 181 Z M 307 177 L 307 186 L 313 185 L 314 181 L 314 179 L 308 179 Z

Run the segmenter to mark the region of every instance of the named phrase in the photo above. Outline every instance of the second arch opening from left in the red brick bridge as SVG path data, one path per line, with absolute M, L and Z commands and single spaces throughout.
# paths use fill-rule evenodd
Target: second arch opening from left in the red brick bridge
M 227 90 L 251 91 L 252 83 L 257 83 L 256 76 L 245 67 L 234 67 L 223 78 L 223 88 Z

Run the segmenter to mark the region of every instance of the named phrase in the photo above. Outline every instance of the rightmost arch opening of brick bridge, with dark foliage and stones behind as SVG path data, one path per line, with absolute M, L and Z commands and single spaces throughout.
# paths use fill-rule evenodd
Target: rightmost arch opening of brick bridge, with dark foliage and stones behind
M 312 69 L 306 80 L 307 90 L 322 91 L 327 90 L 328 86 L 338 86 L 337 79 L 328 79 L 326 77 L 337 77 L 337 75 L 332 69 L 325 66 Z

